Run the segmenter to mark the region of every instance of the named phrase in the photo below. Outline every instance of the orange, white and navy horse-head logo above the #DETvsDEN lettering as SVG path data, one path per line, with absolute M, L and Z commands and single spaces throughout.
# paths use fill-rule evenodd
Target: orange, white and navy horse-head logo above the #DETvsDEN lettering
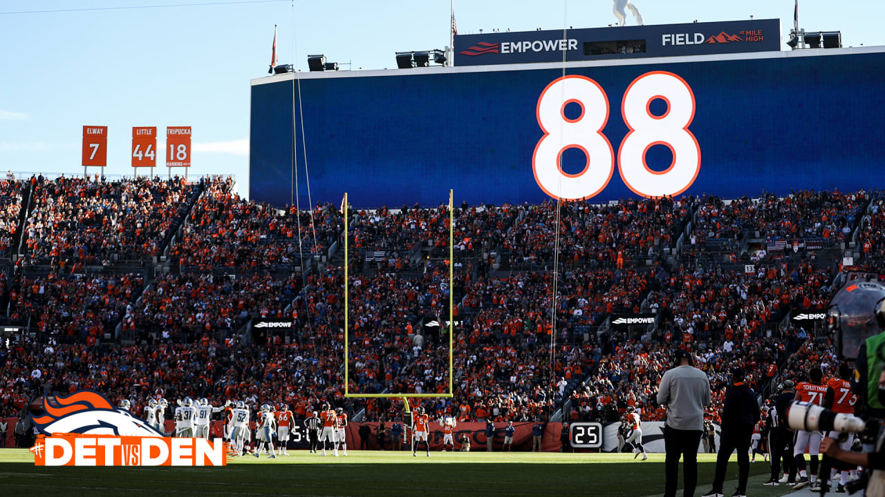
M 104 395 L 92 390 L 81 390 L 50 400 L 43 396 L 45 414 L 31 417 L 37 430 L 43 434 L 88 433 L 91 435 L 118 435 L 163 437 L 153 427 L 132 416 L 126 409 L 114 409 Z

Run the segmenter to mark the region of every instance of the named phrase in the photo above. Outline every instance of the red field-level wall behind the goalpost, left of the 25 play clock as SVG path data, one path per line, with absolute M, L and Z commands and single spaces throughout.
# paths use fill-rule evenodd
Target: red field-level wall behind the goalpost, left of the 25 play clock
M 347 425 L 347 447 L 353 449 L 359 449 L 360 439 L 359 439 L 359 428 L 360 426 L 367 424 L 371 430 L 367 441 L 368 447 L 372 450 L 377 450 L 381 448 L 381 445 L 378 441 L 378 425 L 380 423 L 350 423 Z M 530 451 L 532 450 L 532 423 L 514 423 L 513 428 L 515 431 L 513 432 L 513 445 L 512 450 L 524 450 Z M 393 443 L 393 437 L 390 434 L 390 429 L 393 426 L 392 423 L 385 423 L 384 427 L 386 429 L 386 434 L 384 437 L 384 448 L 390 450 L 391 448 L 405 448 L 409 447 L 408 437 L 411 434 L 403 433 L 400 437 L 402 440 L 401 447 L 391 447 Z M 504 428 L 507 426 L 506 423 L 496 423 L 495 424 L 495 435 L 492 438 L 492 448 L 496 452 L 500 452 L 504 447 Z M 559 432 L 562 429 L 561 423 L 545 423 L 543 435 L 541 436 L 541 450 L 543 452 L 559 452 L 559 448 L 562 445 L 559 442 Z M 461 439 L 466 435 L 467 438 L 470 439 L 470 450 L 472 451 L 486 451 L 486 443 L 488 439 L 486 438 L 486 424 L 485 423 L 458 423 L 458 426 L 455 427 L 454 432 L 452 433 L 452 438 L 455 441 L 455 450 L 461 450 Z M 443 450 L 443 426 L 439 423 L 431 423 L 430 424 L 430 450 Z M 566 441 L 566 443 L 568 443 Z M 419 445 L 420 449 L 424 449 L 424 444 Z

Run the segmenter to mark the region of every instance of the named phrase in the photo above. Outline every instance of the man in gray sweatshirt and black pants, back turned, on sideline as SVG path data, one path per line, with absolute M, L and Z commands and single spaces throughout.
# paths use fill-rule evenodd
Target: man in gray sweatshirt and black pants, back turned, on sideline
M 682 457 L 684 497 L 694 497 L 697 486 L 697 447 L 704 432 L 704 406 L 710 405 L 710 378 L 691 365 L 687 350 L 676 351 L 676 367 L 666 371 L 658 386 L 658 404 L 666 407 L 664 497 L 676 497 L 679 458 Z

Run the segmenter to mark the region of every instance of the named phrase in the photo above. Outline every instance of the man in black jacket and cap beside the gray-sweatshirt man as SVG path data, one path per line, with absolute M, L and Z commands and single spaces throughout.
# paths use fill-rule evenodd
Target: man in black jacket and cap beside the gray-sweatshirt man
M 737 450 L 737 491 L 735 496 L 746 497 L 747 478 L 750 477 L 750 442 L 753 425 L 759 420 L 759 404 L 756 393 L 743 382 L 744 372 L 738 368 L 731 371 L 731 386 L 725 393 L 722 405 L 722 433 L 720 451 L 716 456 L 716 477 L 713 488 L 704 497 L 723 497 L 722 484 L 728 467 L 728 458 Z

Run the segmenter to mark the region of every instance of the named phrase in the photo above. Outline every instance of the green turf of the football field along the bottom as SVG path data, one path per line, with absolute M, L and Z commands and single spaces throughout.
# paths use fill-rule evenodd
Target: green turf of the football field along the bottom
M 0 495 L 612 495 L 650 496 L 664 490 L 664 455 L 527 452 L 442 453 L 353 451 L 321 457 L 304 451 L 277 459 L 234 458 L 224 468 L 45 468 L 26 449 L 0 449 Z M 734 458 L 734 456 L 732 456 Z M 698 455 L 696 495 L 710 489 L 714 455 Z M 789 493 L 762 486 L 767 463 L 754 463 L 753 497 Z M 728 466 L 736 478 L 737 464 Z M 734 492 L 728 481 L 726 495 Z M 679 493 L 681 495 L 681 492 Z

